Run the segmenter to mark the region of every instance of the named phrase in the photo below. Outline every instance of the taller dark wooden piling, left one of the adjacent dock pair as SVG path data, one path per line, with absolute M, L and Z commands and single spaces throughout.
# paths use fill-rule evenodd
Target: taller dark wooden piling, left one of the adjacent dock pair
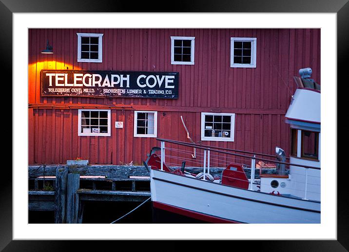
M 55 223 L 66 223 L 67 177 L 68 168 L 58 166 L 56 169 Z

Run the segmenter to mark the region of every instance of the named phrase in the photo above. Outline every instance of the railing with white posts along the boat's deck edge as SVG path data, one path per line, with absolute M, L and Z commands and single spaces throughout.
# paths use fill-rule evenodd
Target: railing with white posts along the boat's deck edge
M 259 168 L 260 178 L 261 175 L 269 176 L 269 174 L 271 176 L 288 176 L 290 166 L 294 166 L 299 168 L 305 168 L 304 198 L 307 198 L 308 185 L 310 185 L 310 183 L 308 182 L 308 177 L 312 176 L 311 174 L 308 174 L 308 170 L 320 169 L 318 167 L 272 160 L 269 157 L 274 157 L 276 159 L 276 156 L 268 154 L 264 155 L 263 153 L 258 152 L 238 151 L 234 149 L 197 145 L 193 143 L 186 143 L 161 138 L 157 138 L 156 140 L 160 142 L 161 170 L 163 170 L 164 163 L 172 168 L 180 168 L 183 165 L 183 162 L 185 162 L 186 169 L 196 172 L 198 172 L 198 170 L 202 171 L 204 180 L 207 180 L 207 174 L 213 174 L 213 176 L 215 176 L 216 179 L 217 176 L 220 176 L 220 179 L 222 179 L 222 171 L 224 168 L 227 167 L 227 165 L 231 163 L 239 163 L 243 165 L 245 170 L 251 170 L 251 172 L 248 174 L 250 175 L 249 189 L 255 188 L 256 182 L 259 183 L 259 181 L 256 181 L 256 175 L 258 175 L 255 174 L 256 168 Z M 193 148 L 195 149 L 195 151 Z M 244 154 L 233 152 L 240 152 Z M 251 153 L 251 155 L 246 155 L 245 153 Z M 281 169 L 282 166 L 283 169 Z M 263 172 L 269 172 L 269 174 L 262 174 Z M 300 172 L 299 174 L 303 173 Z

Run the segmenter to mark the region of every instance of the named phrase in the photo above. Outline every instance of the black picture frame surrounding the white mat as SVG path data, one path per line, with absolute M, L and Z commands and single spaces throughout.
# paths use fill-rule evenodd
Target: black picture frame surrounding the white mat
M 166 12 L 163 1 L 120 1 L 120 0 L 0 0 L 0 55 L 1 72 L 12 73 L 12 15 L 13 13 L 30 12 Z M 279 13 L 337 13 L 337 73 L 338 82 L 345 80 L 348 71 L 346 61 L 349 52 L 349 2 L 348 0 L 332 1 L 311 1 L 311 0 L 201 0 L 201 1 L 180 1 L 174 4 L 172 12 L 279 12 Z M 306 22 L 306 21 L 305 21 Z M 24 42 L 23 42 L 24 43 Z M 8 82 L 12 83 L 12 75 Z M 346 81 L 347 82 L 347 81 Z M 346 84 L 346 82 L 343 82 Z M 335 84 L 333 84 L 335 85 Z M 339 101 L 339 99 L 338 99 Z M 11 115 L 12 116 L 12 115 Z M 11 117 L 10 116 L 10 117 Z M 12 148 L 7 148 L 12 149 Z M 342 151 L 342 154 L 344 150 Z M 341 155 L 337 155 L 340 157 Z M 345 168 L 345 167 L 344 167 Z M 333 164 L 330 169 L 337 169 L 337 164 Z M 7 251 L 61 251 L 72 247 L 78 243 L 79 250 L 94 246 L 99 247 L 106 241 L 13 241 L 12 240 L 12 169 L 4 165 L 1 169 L 2 181 L 0 183 L 0 250 Z M 6 179 L 4 179 L 6 178 Z M 346 176 L 337 177 L 337 240 L 297 240 L 297 241 L 248 241 L 249 247 L 265 251 L 348 251 L 349 250 L 349 221 L 348 221 L 348 189 L 346 188 Z M 155 234 L 156 235 L 156 234 Z M 270 239 L 272 240 L 272 234 Z M 68 244 L 69 242 L 69 244 Z M 238 241 L 234 241 L 230 246 L 237 247 Z M 117 241 L 118 246 L 122 246 Z M 242 242 L 239 242 L 242 243 Z M 107 243 L 107 246 L 110 242 Z M 143 243 L 143 247 L 147 243 Z M 171 242 L 171 247 L 175 248 L 175 242 Z M 197 243 L 196 243 L 197 244 Z M 127 244 L 124 244 L 127 246 Z M 134 243 L 133 243 L 134 245 Z M 195 245 L 196 246 L 196 245 Z M 121 248 L 121 247 L 120 247 Z M 134 247 L 133 247 L 134 248 Z M 180 248 L 180 247 L 178 247 Z M 223 249 L 223 247 L 221 247 Z M 228 247 L 227 247 L 228 249 Z

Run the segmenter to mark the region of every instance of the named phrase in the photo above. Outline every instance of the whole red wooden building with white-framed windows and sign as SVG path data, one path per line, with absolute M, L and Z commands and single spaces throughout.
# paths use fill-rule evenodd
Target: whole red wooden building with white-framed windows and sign
M 52 54 L 41 53 L 47 41 Z M 320 29 L 29 29 L 28 43 L 30 165 L 77 157 L 141 164 L 159 145 L 156 137 L 188 141 L 180 116 L 195 142 L 289 153 L 284 116 L 293 76 L 311 67 L 321 83 Z M 73 84 L 67 78 L 74 73 Z M 99 86 L 127 93 L 134 74 L 139 92 L 161 80 L 161 88 L 170 80 L 178 89 L 173 99 L 162 91 L 148 98 L 74 93 Z

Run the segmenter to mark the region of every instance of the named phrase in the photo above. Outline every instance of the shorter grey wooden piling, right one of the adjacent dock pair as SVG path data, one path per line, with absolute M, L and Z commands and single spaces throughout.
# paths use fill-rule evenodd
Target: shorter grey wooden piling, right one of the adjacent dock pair
M 78 223 L 80 174 L 69 173 L 67 183 L 67 215 L 66 223 Z

